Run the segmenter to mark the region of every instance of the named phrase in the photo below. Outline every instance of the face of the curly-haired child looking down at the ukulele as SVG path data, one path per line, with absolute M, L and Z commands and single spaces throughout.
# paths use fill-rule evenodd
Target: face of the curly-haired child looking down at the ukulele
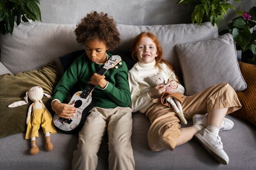
M 101 40 L 88 40 L 85 42 L 85 53 L 91 62 L 103 64 L 107 60 L 106 43 Z

